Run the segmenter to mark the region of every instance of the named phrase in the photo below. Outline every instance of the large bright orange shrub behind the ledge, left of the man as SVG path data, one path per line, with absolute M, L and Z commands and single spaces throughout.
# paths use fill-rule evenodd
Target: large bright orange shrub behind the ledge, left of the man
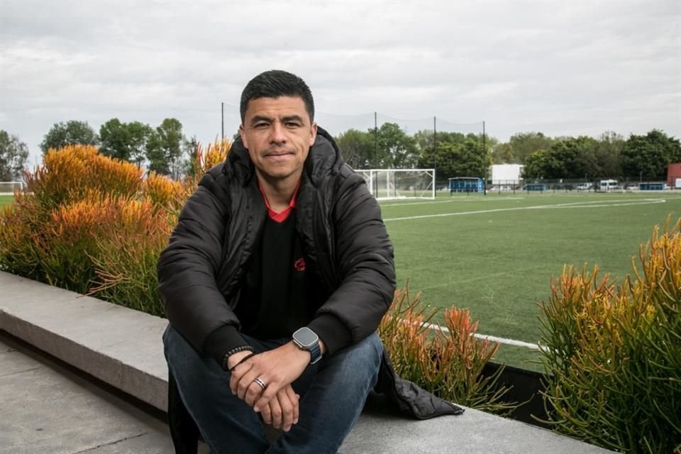
M 196 170 L 224 160 L 229 145 L 199 148 Z M 0 270 L 162 315 L 156 262 L 198 181 L 145 178 L 89 145 L 50 150 L 0 212 Z

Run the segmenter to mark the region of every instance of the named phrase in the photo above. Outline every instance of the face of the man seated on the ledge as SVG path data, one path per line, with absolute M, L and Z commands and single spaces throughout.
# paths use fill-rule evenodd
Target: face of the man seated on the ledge
M 317 125 L 299 97 L 258 98 L 248 102 L 239 134 L 260 179 L 297 182 Z

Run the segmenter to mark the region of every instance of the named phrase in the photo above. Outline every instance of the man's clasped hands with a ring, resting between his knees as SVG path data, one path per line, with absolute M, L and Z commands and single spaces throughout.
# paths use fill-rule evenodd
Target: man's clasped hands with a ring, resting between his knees
M 247 354 L 249 353 L 247 352 Z M 245 356 L 241 355 L 238 359 L 234 358 L 232 361 L 234 355 L 228 359 L 230 367 L 233 367 L 233 364 L 236 364 Z M 282 407 L 282 402 L 286 409 L 288 409 L 289 403 L 295 406 L 296 408 L 292 410 L 291 414 L 297 414 L 298 399 L 292 399 L 291 394 L 285 388 L 290 387 L 290 384 L 300 377 L 309 362 L 310 353 L 300 350 L 293 342 L 289 342 L 274 350 L 268 350 L 248 358 L 238 365 L 232 372 L 229 387 L 239 399 L 253 406 L 254 411 L 262 411 L 263 419 L 266 412 L 269 412 L 270 417 L 273 413 L 276 416 L 279 413 L 279 408 Z M 256 378 L 265 383 L 265 389 L 262 389 L 260 384 L 255 382 Z M 279 393 L 282 390 L 284 392 L 280 396 Z M 270 405 L 270 401 L 275 397 L 277 397 L 277 403 L 272 402 Z M 268 406 L 267 410 L 265 410 L 265 406 Z M 276 421 L 275 419 L 272 420 Z M 293 418 L 291 421 L 293 421 Z M 282 419 L 283 423 L 284 419 Z

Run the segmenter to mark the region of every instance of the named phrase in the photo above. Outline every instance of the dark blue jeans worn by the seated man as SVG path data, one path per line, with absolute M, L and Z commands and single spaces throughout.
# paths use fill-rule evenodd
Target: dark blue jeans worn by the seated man
M 289 341 L 243 337 L 257 353 Z M 301 396 L 298 423 L 270 445 L 258 414 L 231 393 L 229 372 L 194 350 L 170 325 L 163 344 L 182 402 L 211 454 L 336 453 L 376 384 L 383 350 L 374 333 L 307 367 L 292 384 Z

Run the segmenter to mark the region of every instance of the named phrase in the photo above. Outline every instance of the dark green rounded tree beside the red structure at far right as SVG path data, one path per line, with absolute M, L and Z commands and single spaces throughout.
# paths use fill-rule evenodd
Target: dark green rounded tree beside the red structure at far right
M 677 138 L 653 129 L 646 135 L 631 134 L 621 155 L 625 176 L 666 179 L 670 162 L 681 162 L 681 145 Z

